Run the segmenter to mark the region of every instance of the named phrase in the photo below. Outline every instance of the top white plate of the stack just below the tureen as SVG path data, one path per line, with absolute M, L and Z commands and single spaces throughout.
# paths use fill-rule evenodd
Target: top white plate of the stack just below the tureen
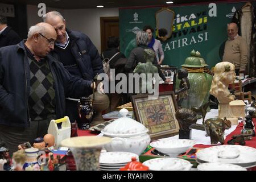
M 136 157 L 137 154 L 131 152 L 105 152 L 100 155 L 100 164 L 123 164 L 131 162 L 131 158 Z

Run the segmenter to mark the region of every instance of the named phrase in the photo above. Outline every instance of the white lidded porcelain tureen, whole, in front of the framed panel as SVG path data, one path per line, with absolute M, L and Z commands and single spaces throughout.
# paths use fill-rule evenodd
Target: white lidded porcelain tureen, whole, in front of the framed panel
M 105 126 L 101 133 L 106 137 L 112 137 L 112 142 L 104 147 L 108 152 L 125 151 L 140 155 L 150 143 L 148 129 L 142 123 L 126 117 L 127 109 L 121 109 L 121 118 L 115 119 Z

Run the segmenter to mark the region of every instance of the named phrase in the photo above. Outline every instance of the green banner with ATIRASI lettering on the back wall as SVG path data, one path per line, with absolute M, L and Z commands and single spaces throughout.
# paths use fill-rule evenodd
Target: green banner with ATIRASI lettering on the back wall
M 234 12 L 243 5 L 244 2 L 168 7 L 175 12 L 175 22 L 171 38 L 162 42 L 163 64 L 180 68 L 192 49 L 195 49 L 210 68 L 214 67 L 221 61 L 220 47 L 228 37 L 226 26 L 231 22 Z M 160 9 L 119 9 L 120 48 L 126 57 L 137 46 L 136 32 L 145 25 L 155 28 L 155 13 Z

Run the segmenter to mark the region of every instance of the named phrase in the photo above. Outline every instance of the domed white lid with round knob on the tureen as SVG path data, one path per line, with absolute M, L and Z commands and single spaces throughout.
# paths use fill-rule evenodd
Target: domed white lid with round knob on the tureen
M 148 129 L 142 123 L 126 117 L 128 113 L 127 109 L 121 109 L 119 114 L 122 117 L 105 126 L 101 133 L 108 137 L 133 137 L 147 133 Z

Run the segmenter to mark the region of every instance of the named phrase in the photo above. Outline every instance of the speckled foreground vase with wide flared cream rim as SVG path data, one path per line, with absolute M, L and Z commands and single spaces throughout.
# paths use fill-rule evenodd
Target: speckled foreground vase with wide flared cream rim
M 102 146 L 110 141 L 109 137 L 72 137 L 64 139 L 61 146 L 72 151 L 78 171 L 98 171 Z

